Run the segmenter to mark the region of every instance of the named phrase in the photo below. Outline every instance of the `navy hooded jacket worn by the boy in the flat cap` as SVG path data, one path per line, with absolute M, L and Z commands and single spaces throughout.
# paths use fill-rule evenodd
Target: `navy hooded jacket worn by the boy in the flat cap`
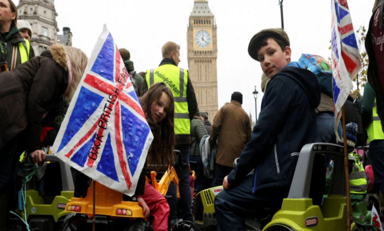
M 311 71 L 288 65 L 273 76 L 252 139 L 228 175 L 230 186 L 256 169 L 253 193 L 289 188 L 301 148 L 315 142 L 319 104 L 320 85 Z

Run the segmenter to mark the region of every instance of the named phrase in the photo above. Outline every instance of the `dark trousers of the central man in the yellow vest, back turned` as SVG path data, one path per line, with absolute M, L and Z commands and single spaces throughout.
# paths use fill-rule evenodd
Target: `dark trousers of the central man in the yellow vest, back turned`
M 183 175 L 179 176 L 179 192 L 181 204 L 181 216 L 184 221 L 193 221 L 192 217 L 192 195 L 190 188 L 190 144 L 175 146 L 175 149 L 180 150 L 181 159 L 184 164 L 187 164 Z

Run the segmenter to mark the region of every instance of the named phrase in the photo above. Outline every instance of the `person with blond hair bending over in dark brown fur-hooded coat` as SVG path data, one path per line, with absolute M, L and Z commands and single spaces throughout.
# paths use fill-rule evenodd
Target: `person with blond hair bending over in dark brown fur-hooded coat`
M 23 145 L 33 162 L 44 163 L 46 153 L 40 149 L 43 118 L 60 100 L 73 96 L 87 62 L 81 50 L 54 44 L 40 56 L 0 73 L 0 202 L 8 201 L 8 209 L 14 206 L 16 193 L 12 185 L 21 154 L 17 150 Z M 0 209 L 0 222 L 4 210 L 7 206 Z

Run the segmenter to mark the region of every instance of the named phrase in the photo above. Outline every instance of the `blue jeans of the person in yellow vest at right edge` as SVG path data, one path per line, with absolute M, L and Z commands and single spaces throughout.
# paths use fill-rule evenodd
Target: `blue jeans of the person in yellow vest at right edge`
M 384 193 L 384 140 L 374 140 L 369 143 L 368 156 L 371 160 L 375 183 Z

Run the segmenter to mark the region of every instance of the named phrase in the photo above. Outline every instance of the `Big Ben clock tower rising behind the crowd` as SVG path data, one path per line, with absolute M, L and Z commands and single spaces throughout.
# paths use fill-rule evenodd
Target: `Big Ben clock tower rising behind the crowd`
M 217 27 L 208 0 L 194 0 L 188 25 L 188 65 L 200 112 L 218 112 Z

